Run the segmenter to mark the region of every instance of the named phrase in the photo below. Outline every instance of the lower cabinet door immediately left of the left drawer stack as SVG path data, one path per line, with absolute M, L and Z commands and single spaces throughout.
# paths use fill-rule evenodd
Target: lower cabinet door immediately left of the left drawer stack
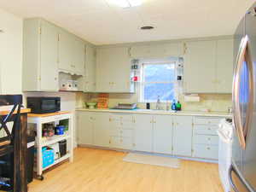
M 96 113 L 94 121 L 94 145 L 109 147 L 109 114 Z

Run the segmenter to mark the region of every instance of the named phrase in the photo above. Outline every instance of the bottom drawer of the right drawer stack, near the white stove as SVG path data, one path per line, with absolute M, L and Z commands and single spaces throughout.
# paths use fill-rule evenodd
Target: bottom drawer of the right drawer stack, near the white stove
M 218 146 L 195 144 L 193 157 L 218 160 Z

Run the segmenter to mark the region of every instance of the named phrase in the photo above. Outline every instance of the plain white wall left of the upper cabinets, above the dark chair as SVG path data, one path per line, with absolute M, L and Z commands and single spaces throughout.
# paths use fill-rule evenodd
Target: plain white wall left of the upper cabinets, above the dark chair
M 21 93 L 23 21 L 0 9 L 0 93 Z

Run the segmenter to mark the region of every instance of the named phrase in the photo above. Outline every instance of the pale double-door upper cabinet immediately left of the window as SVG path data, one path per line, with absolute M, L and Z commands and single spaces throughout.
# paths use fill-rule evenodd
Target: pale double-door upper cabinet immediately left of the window
M 128 49 L 127 47 L 116 47 L 96 50 L 97 92 L 134 92 Z

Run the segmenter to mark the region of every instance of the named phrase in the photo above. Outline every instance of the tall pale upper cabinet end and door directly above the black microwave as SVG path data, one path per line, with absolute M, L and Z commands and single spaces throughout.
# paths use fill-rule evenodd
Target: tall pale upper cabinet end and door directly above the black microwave
M 24 20 L 23 90 L 58 90 L 58 33 L 45 20 Z

